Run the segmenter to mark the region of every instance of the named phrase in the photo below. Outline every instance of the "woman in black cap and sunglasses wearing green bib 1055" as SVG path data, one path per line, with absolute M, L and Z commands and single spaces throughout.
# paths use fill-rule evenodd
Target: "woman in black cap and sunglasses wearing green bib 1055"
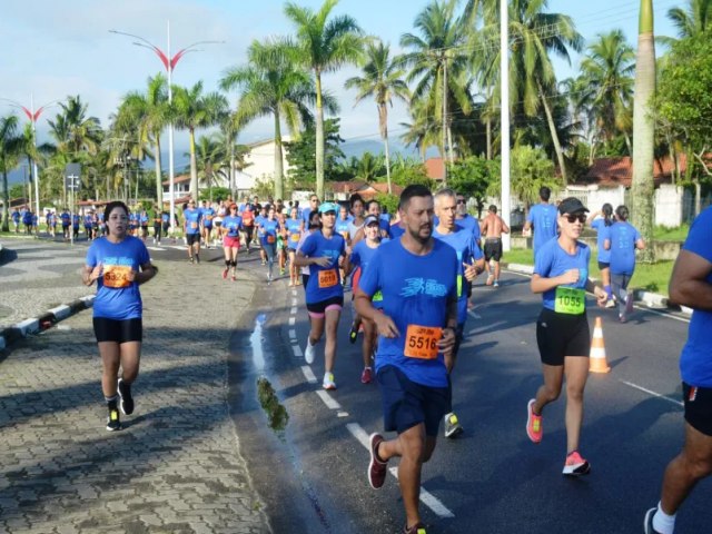
M 591 465 L 578 453 L 583 423 L 583 390 L 589 377 L 591 335 L 586 317 L 586 290 L 593 291 L 599 306 L 609 296 L 589 278 L 591 249 L 580 241 L 589 211 L 577 198 L 558 206 L 561 235 L 542 245 L 534 258 L 532 291 L 542 294 L 544 308 L 536 322 L 544 384 L 526 407 L 526 434 L 542 441 L 542 411 L 558 398 L 566 375 L 566 459 L 563 474 L 585 475 Z

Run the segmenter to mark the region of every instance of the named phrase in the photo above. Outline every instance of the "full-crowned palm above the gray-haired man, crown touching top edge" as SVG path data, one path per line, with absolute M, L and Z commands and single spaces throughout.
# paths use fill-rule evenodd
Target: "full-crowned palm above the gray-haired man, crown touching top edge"
M 453 157 L 451 117 L 448 111 L 451 97 L 459 106 L 459 113 L 468 115 L 472 110 L 468 92 L 469 80 L 467 66 L 469 62 L 465 43 L 467 32 L 464 20 L 455 17 L 456 0 L 441 2 L 433 0 L 415 19 L 415 28 L 422 37 L 404 33 L 400 46 L 411 49 L 402 56 L 403 65 L 411 67 L 407 81 L 418 80 L 413 90 L 413 100 L 428 100 L 427 107 L 435 112 L 441 125 L 441 156 Z

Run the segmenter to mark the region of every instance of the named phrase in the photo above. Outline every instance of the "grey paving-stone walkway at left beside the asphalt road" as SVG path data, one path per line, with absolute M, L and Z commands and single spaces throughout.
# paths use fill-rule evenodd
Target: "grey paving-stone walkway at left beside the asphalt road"
M 228 342 L 254 283 L 227 283 L 216 264 L 159 267 L 141 289 L 123 431 L 105 429 L 91 310 L 0 362 L 0 532 L 270 532 L 226 400 Z

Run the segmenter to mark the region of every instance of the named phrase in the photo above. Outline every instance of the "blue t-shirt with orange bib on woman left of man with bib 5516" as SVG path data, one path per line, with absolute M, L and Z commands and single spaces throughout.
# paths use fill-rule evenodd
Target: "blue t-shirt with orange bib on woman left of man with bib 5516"
M 333 297 L 343 297 L 342 277 L 338 269 L 338 258 L 344 255 L 346 241 L 338 234 L 329 239 L 320 231 L 314 231 L 301 244 L 301 254 L 309 258 L 328 257 L 326 267 L 317 264 L 309 265 L 310 276 L 306 287 L 307 304 L 320 303 Z

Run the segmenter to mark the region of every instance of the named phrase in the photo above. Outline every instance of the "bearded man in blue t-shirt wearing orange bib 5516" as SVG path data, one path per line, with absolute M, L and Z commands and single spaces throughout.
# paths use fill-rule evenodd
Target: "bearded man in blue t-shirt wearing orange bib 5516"
M 389 441 L 370 435 L 368 482 L 382 487 L 388 459 L 400 457 L 404 532 L 415 534 L 425 528 L 418 511 L 423 463 L 433 455 L 441 421 L 451 411 L 457 256 L 433 238 L 433 196 L 426 187 L 406 187 L 398 210 L 406 231 L 378 247 L 362 275 L 355 305 L 362 317 L 376 324 L 384 426 L 398 433 Z M 383 295 L 382 309 L 370 301 L 376 291 Z

